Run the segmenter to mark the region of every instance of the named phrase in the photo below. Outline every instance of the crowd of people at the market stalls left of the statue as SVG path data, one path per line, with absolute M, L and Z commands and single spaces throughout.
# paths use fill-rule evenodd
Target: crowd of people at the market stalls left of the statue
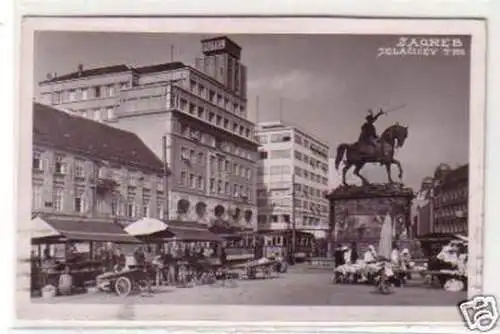
M 82 279 L 74 270 L 75 266 L 84 262 L 97 268 L 94 276 L 139 269 L 151 291 L 153 285 L 181 285 L 213 279 L 207 268 L 214 263 L 223 267 L 227 255 L 224 244 L 202 242 L 166 243 L 155 247 L 139 245 L 135 249 L 106 243 L 92 254 L 79 253 L 74 245 L 67 245 L 64 259 L 55 258 L 46 247 L 41 256 L 32 253 L 32 290 L 55 286 L 59 294 L 70 294 L 75 284 L 82 283 L 75 282 Z M 84 279 L 89 279 L 88 275 Z

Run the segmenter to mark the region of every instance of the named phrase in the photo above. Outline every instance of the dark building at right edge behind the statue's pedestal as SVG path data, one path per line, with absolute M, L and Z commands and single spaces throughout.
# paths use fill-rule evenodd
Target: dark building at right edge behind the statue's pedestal
M 418 234 L 468 235 L 469 165 L 439 165 L 423 182 L 427 202 L 419 208 Z

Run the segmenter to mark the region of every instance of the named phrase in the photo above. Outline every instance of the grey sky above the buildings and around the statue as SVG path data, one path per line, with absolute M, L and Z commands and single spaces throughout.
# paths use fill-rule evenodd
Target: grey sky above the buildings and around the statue
M 200 40 L 211 35 L 156 33 L 37 32 L 34 77 L 116 64 L 169 62 L 188 65 L 201 55 Z M 418 190 L 437 165 L 468 163 L 468 56 L 380 56 L 396 35 L 229 35 L 242 47 L 248 73 L 249 119 L 298 124 L 330 145 L 355 142 L 369 108 L 404 108 L 381 117 L 379 134 L 399 122 L 409 127 L 396 152 L 403 182 Z M 465 41 L 468 51 L 468 40 Z M 256 100 L 259 100 L 258 113 Z M 281 113 L 280 113 L 281 100 Z M 351 170 L 352 172 L 352 170 Z M 371 182 L 386 182 L 385 168 L 366 165 Z M 331 168 L 331 186 L 339 172 Z M 394 166 L 393 176 L 397 175 Z M 349 177 L 350 182 L 357 181 Z

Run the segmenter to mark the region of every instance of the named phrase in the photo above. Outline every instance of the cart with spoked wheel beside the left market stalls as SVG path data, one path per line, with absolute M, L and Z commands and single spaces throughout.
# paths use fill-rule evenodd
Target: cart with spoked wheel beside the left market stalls
M 97 276 L 97 288 L 100 291 L 114 292 L 118 296 L 128 296 L 139 292 L 147 286 L 147 274 L 141 269 L 125 269 L 106 272 Z

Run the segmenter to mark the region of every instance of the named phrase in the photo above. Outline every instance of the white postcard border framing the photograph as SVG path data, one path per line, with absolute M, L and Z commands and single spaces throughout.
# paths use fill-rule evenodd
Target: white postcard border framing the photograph
M 300 24 L 298 23 L 300 20 Z M 33 32 L 34 30 L 66 31 L 148 31 L 176 33 L 301 33 L 301 34 L 471 34 L 471 116 L 470 116 L 470 199 L 469 235 L 471 273 L 469 295 L 482 291 L 483 266 L 483 191 L 484 191 L 484 129 L 485 129 L 485 23 L 479 20 L 399 20 L 387 19 L 339 19 L 339 18 L 168 18 L 165 19 L 111 19 L 111 18 L 29 18 L 22 24 L 22 52 L 20 87 L 21 111 L 17 117 L 16 129 L 18 163 L 18 257 L 26 258 L 29 249 L 29 221 L 31 212 L 26 199 L 31 198 L 31 104 L 33 95 Z M 24 200 L 23 200 L 24 199 Z M 31 320 L 115 320 L 123 305 L 71 305 L 34 304 L 29 300 L 25 284 L 27 263 L 18 266 L 17 311 L 21 319 Z M 28 269 L 29 271 L 29 269 Z M 473 274 L 474 273 L 474 274 Z M 21 277 L 22 276 L 22 277 Z M 24 284 L 23 284 L 24 282 Z M 424 321 L 446 322 L 463 328 L 455 307 L 255 307 L 255 306 L 178 306 L 178 305 L 131 305 L 133 319 L 147 321 L 182 320 L 193 318 L 216 321 L 359 321 L 378 322 L 387 325 Z M 398 312 L 399 311 L 399 312 Z M 360 316 L 363 316 L 363 319 Z M 20 323 L 21 324 L 21 323 Z M 26 324 L 26 323 L 25 323 Z M 45 323 L 47 324 L 47 323 Z M 86 325 L 89 325 L 86 323 Z M 116 325 L 116 323 L 107 323 Z M 123 322 L 118 323 L 123 324 Z M 40 323 L 42 325 L 42 323 Z M 54 323 L 50 324 L 51 326 Z M 102 326 L 104 323 L 99 322 Z M 139 323 L 134 322 L 134 326 Z M 43 325 L 42 325 L 43 326 Z

